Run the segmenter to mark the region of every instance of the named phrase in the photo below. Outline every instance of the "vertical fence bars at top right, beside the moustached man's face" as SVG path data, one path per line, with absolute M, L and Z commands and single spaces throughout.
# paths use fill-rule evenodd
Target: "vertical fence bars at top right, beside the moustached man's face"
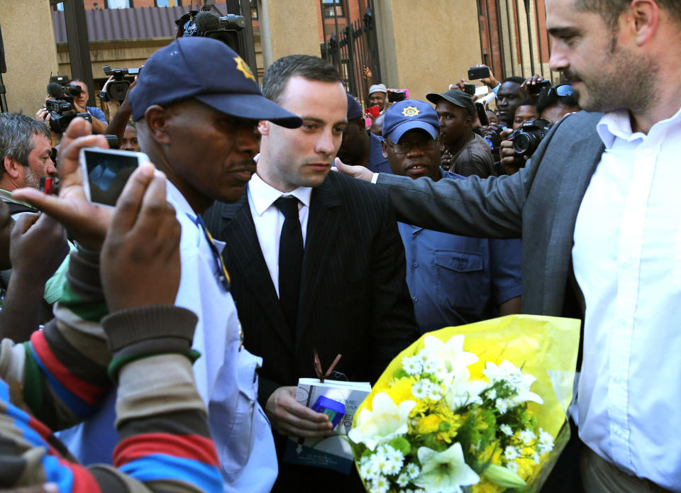
M 541 74 L 554 83 L 548 68 L 550 42 L 544 0 L 477 0 L 482 62 L 502 80 L 511 75 Z

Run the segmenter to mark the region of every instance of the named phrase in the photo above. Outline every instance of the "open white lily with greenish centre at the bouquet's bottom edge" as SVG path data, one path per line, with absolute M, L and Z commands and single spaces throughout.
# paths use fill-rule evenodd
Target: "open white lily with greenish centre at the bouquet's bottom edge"
M 462 486 L 480 481 L 480 476 L 463 460 L 463 450 L 458 442 L 443 452 L 419 447 L 418 455 L 421 475 L 414 484 L 429 493 L 456 493 Z

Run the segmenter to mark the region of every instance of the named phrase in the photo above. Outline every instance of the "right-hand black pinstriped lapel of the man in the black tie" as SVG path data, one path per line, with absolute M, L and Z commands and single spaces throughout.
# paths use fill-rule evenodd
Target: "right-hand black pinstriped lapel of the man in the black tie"
M 310 199 L 298 306 L 296 349 L 304 331 L 309 328 L 312 306 L 316 293 L 320 291 L 319 283 L 323 282 L 325 267 L 331 265 L 328 255 L 336 243 L 338 233 L 341 197 L 334 187 L 331 173 L 319 187 L 312 190 Z M 304 355 L 305 358 L 308 356 L 311 358 L 311 355 Z

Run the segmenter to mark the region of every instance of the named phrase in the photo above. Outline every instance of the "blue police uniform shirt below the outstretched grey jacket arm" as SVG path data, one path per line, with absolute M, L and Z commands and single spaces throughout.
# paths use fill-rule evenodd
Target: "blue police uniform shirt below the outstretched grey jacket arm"
M 441 170 L 443 179 L 465 179 Z M 421 332 L 498 316 L 521 294 L 521 240 L 488 240 L 399 223 Z

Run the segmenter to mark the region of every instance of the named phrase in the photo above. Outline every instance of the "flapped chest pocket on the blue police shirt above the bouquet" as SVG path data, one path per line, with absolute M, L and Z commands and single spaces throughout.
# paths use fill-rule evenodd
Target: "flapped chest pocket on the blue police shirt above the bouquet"
M 451 309 L 483 309 L 489 292 L 485 256 L 460 250 L 436 250 L 436 299 Z

